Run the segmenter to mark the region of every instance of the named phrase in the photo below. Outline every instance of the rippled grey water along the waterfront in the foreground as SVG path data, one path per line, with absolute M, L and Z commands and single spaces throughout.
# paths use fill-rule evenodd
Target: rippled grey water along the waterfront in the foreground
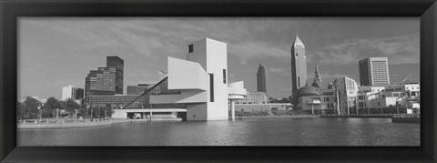
M 420 146 L 420 125 L 390 118 L 134 122 L 18 130 L 18 146 Z

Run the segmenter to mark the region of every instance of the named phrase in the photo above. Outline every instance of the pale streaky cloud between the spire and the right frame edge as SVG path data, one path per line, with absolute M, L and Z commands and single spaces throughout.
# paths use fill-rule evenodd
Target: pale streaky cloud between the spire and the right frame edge
M 320 64 L 355 64 L 365 57 L 387 56 L 389 64 L 417 64 L 420 61 L 419 35 L 379 39 L 352 39 L 309 52 L 311 62 Z

